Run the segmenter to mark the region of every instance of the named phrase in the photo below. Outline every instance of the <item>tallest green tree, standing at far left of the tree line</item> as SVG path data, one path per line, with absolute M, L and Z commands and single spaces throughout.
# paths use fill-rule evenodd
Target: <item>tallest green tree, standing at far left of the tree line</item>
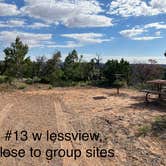
M 17 78 L 23 77 L 23 67 L 27 62 L 28 58 L 28 45 L 23 44 L 19 37 L 16 38 L 15 42 L 4 50 L 5 53 L 5 73 L 10 76 Z

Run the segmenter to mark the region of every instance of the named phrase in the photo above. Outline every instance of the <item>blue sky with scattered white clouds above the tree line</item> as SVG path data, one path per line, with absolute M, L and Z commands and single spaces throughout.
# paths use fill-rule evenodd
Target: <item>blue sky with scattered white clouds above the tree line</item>
M 85 60 L 166 64 L 166 0 L 0 0 L 0 59 L 17 36 L 33 60 L 76 49 Z

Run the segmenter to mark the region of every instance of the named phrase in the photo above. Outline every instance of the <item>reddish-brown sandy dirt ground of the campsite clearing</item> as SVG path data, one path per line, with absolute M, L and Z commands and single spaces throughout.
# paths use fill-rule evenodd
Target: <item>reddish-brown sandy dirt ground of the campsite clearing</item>
M 114 157 L 74 160 L 67 157 L 0 157 L 0 166 L 166 166 L 166 137 L 137 136 L 138 129 L 166 106 L 146 105 L 144 94 L 123 89 L 57 88 L 0 93 L 0 147 L 26 149 L 114 149 Z M 31 132 L 98 132 L 100 141 L 5 141 L 7 130 Z

